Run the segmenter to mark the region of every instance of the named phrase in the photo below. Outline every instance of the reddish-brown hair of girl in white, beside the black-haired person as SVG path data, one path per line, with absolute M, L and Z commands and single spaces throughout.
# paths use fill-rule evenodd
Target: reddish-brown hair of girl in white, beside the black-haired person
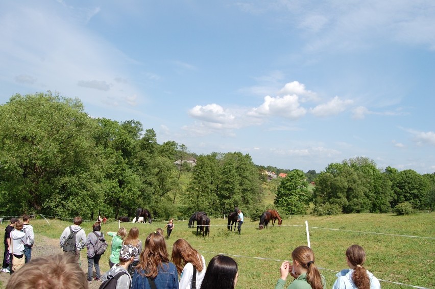
M 202 267 L 202 258 L 199 256 L 198 251 L 190 246 L 184 239 L 178 239 L 172 246 L 171 261 L 177 267 L 178 274 L 183 271 L 183 267 L 188 262 L 190 262 L 198 272 L 204 269 Z

